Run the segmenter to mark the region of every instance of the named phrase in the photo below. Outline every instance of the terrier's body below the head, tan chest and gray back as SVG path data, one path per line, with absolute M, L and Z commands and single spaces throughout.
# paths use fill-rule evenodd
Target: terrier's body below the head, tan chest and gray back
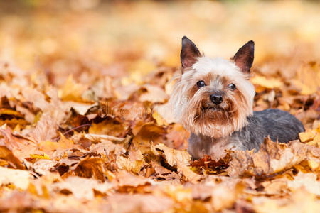
M 203 154 L 223 156 L 220 149 L 259 150 L 260 144 L 266 137 L 272 141 L 288 143 L 299 139 L 299 133 L 304 131 L 303 124 L 287 111 L 279 109 L 266 109 L 254 111 L 247 118 L 247 125 L 240 131 L 233 132 L 225 138 L 210 138 L 191 134 L 188 151 L 194 158 L 202 158 Z

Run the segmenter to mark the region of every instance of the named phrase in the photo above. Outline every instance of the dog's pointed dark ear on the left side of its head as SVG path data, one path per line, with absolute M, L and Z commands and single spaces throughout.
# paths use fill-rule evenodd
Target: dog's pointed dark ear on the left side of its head
M 180 53 L 182 67 L 191 67 L 196 62 L 196 58 L 200 56 L 201 54 L 196 45 L 186 36 L 183 36 Z

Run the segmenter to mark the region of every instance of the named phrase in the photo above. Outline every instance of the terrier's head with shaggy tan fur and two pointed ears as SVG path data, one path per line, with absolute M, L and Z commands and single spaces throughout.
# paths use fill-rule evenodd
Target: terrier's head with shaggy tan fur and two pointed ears
M 249 81 L 253 55 L 254 43 L 249 41 L 231 60 L 207 58 L 184 36 L 182 72 L 169 100 L 176 119 L 188 131 L 213 138 L 242 129 L 255 96 Z

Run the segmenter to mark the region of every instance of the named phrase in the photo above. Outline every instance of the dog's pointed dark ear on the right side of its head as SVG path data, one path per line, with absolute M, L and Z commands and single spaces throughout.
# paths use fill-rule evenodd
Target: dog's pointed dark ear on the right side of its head
M 255 43 L 250 40 L 245 45 L 242 46 L 233 56 L 233 61 L 235 65 L 240 68 L 242 72 L 250 73 L 250 68 L 253 63 L 255 53 Z

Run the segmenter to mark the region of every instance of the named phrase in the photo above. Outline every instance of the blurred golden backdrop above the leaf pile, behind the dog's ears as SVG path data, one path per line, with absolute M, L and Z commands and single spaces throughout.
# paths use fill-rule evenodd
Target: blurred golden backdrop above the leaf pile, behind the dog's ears
M 187 35 L 225 58 L 255 40 L 255 67 L 285 64 L 290 75 L 297 61 L 319 60 L 319 26 L 319 1 L 0 1 L 0 58 L 57 85 L 66 74 L 92 81 L 84 70 L 134 80 L 179 66 Z

